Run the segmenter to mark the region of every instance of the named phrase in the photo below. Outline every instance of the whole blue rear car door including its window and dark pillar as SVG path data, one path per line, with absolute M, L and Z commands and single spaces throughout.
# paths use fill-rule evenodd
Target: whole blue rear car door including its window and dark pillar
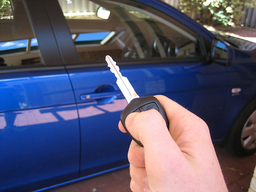
M 32 191 L 78 177 L 78 115 L 44 2 L 13 0 L 5 6 L 0 191 Z

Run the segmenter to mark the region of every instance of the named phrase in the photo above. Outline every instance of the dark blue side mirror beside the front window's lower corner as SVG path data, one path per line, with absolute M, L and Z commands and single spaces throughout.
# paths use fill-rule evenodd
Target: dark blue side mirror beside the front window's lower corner
M 212 61 L 229 66 L 234 57 L 233 48 L 220 39 L 214 39 L 212 43 Z

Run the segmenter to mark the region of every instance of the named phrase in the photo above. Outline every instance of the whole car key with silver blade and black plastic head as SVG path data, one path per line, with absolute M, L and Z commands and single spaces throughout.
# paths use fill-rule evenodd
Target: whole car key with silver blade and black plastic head
M 124 94 L 124 97 L 128 103 L 128 105 L 124 108 L 124 110 L 121 113 L 121 116 L 120 116 L 121 123 L 123 124 L 124 129 L 130 135 L 130 137 L 138 145 L 143 147 L 142 143 L 139 140 L 136 140 L 131 135 L 131 133 L 127 130 L 125 126 L 126 117 L 132 112 L 142 112 L 150 109 L 156 109 L 163 116 L 166 126 L 169 130 L 169 121 L 165 114 L 164 108 L 154 96 L 139 97 L 139 95 L 137 95 L 137 93 L 134 91 L 127 77 L 122 76 L 122 74 L 119 71 L 119 67 L 116 65 L 116 62 L 109 55 L 106 56 L 106 61 L 108 63 L 108 67 L 110 68 L 110 71 L 115 74 L 117 78 L 116 84 L 120 88 L 121 92 Z

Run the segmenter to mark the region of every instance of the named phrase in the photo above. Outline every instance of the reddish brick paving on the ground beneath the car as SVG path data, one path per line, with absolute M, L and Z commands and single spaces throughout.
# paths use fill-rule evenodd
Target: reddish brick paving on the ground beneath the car
M 247 192 L 256 165 L 256 155 L 237 157 L 219 146 L 215 146 L 215 150 L 229 192 Z M 131 192 L 130 179 L 129 168 L 125 168 L 50 192 Z

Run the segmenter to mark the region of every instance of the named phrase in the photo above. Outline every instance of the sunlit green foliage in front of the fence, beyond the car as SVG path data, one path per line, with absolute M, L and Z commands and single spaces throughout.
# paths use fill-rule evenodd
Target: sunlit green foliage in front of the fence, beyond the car
M 180 0 L 179 8 L 203 24 L 227 26 L 239 25 L 244 8 L 255 5 L 256 0 Z

